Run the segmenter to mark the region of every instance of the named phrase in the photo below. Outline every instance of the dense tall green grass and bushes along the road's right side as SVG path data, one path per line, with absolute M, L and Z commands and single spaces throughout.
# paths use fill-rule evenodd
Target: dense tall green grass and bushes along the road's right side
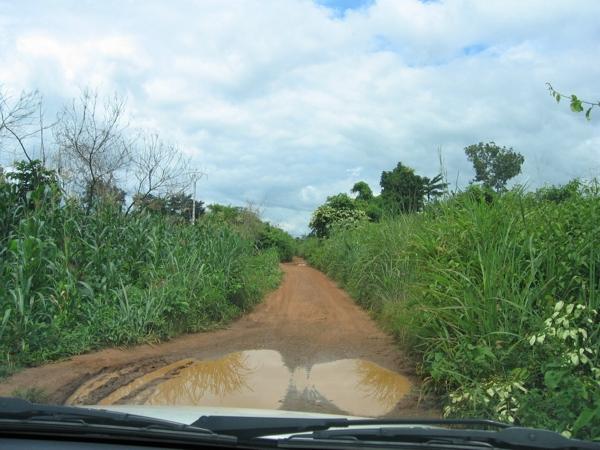
M 599 219 L 594 185 L 466 193 L 303 252 L 414 352 L 446 415 L 599 437 Z

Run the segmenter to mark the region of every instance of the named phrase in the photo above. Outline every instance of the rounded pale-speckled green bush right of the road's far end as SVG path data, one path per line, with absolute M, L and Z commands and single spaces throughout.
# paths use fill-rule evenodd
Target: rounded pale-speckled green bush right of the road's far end
M 328 236 L 335 228 L 351 228 L 367 220 L 367 214 L 347 194 L 327 198 L 312 215 L 310 228 L 315 236 Z

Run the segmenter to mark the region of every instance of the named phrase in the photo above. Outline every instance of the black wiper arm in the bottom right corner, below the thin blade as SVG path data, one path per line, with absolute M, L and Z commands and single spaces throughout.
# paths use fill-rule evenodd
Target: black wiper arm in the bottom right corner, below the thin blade
M 600 450 L 600 443 L 570 439 L 559 433 L 535 428 L 508 427 L 498 431 L 423 427 L 379 427 L 315 431 L 310 435 L 291 438 L 352 439 L 412 443 L 469 443 L 491 444 L 508 449 Z

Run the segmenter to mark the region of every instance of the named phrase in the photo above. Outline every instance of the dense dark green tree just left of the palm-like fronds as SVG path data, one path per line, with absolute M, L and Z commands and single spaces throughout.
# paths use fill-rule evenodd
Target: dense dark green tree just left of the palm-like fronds
M 391 212 L 408 213 L 423 207 L 425 179 L 399 162 L 394 170 L 381 173 L 381 197 Z

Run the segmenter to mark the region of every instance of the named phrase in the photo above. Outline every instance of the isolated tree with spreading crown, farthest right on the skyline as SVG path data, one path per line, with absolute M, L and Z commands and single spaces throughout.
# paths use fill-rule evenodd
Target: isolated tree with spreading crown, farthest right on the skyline
M 506 189 L 506 183 L 521 173 L 525 161 L 523 155 L 512 148 L 500 147 L 494 142 L 469 145 L 465 153 L 475 169 L 474 182 L 501 192 Z

